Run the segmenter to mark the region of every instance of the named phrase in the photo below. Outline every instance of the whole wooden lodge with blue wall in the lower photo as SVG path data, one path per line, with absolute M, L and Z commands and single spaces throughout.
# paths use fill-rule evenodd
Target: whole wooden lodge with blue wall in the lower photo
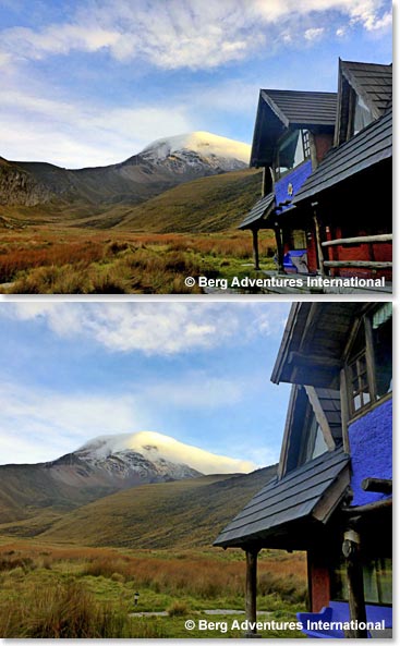
M 307 621 L 391 627 L 391 304 L 296 303 L 271 380 L 292 385 L 278 474 L 215 541 L 246 554 L 246 615 L 256 620 L 257 554 L 307 553 Z M 371 632 L 371 631 L 369 631 Z M 254 636 L 250 634 L 249 636 Z

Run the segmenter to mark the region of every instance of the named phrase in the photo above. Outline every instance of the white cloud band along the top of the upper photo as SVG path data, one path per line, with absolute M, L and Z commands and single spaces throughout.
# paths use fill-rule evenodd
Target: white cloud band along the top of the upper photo
M 4 29 L 2 47 L 20 59 L 107 50 L 119 61 L 145 60 L 161 69 L 213 69 L 270 46 L 276 35 L 268 29 L 282 21 L 295 25 L 307 16 L 315 29 L 324 13 L 336 11 L 367 31 L 386 28 L 390 14 L 381 5 L 381 0 L 102 0 L 82 3 L 64 24 Z

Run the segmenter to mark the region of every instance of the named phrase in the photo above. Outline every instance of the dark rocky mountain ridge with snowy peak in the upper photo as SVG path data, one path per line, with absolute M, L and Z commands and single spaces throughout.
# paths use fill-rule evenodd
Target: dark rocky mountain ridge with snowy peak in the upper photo
M 69 170 L 36 161 L 2 160 L 0 204 L 136 205 L 196 178 L 247 167 L 250 146 L 196 132 L 158 139 L 107 167 Z

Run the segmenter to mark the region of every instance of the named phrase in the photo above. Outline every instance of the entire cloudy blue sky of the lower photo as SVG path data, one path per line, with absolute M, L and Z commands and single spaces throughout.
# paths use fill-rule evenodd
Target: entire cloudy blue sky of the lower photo
M 279 458 L 269 381 L 289 303 L 0 303 L 0 463 L 149 430 L 255 465 Z

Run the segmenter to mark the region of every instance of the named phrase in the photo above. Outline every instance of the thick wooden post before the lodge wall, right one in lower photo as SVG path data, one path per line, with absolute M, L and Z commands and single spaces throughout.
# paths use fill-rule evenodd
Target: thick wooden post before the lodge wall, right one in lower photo
M 363 566 L 360 557 L 360 534 L 353 528 L 344 532 L 343 554 L 346 557 L 349 587 L 350 621 L 355 623 L 354 630 L 347 636 L 356 639 L 366 639 L 368 636 L 366 627 L 360 627 L 360 624 L 366 624 Z

